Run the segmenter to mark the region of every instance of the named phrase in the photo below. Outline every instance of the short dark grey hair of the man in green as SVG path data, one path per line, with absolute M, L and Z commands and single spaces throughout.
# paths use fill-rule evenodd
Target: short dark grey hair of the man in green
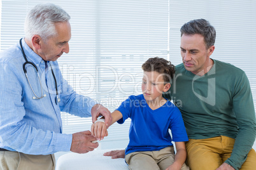
M 204 37 L 204 43 L 206 48 L 210 48 L 215 43 L 216 30 L 213 25 L 210 24 L 207 20 L 197 19 L 191 20 L 190 22 L 185 23 L 181 29 L 181 36 L 185 35 L 194 35 L 200 34 Z

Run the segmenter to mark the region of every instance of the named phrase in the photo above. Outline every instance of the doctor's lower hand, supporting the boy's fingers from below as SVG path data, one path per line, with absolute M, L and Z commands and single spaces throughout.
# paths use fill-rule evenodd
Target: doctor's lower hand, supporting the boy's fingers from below
M 92 143 L 92 141 L 97 139 L 91 134 L 90 131 L 73 133 L 70 151 L 78 154 L 85 154 L 94 150 L 94 148 L 97 148 L 99 143 Z

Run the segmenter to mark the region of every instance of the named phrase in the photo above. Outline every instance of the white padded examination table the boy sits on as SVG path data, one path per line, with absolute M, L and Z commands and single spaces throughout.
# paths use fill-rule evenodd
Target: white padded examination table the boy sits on
M 113 150 L 113 149 L 112 149 Z M 103 154 L 110 150 L 94 150 L 87 154 L 69 153 L 59 157 L 55 170 L 129 169 L 124 159 L 111 159 Z

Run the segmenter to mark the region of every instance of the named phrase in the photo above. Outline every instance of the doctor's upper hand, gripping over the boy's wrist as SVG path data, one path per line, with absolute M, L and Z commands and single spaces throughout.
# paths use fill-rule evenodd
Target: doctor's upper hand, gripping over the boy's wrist
M 108 128 L 112 122 L 111 113 L 108 108 L 104 107 L 103 105 L 96 104 L 92 107 L 92 122 L 94 123 L 97 121 L 97 117 L 100 115 L 104 116 L 106 127 Z

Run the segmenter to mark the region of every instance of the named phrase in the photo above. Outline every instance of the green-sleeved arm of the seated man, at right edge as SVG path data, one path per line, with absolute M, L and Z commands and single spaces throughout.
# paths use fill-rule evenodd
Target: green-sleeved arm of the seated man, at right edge
M 246 155 L 252 149 L 255 141 L 256 124 L 250 83 L 245 73 L 236 82 L 232 105 L 238 122 L 238 135 L 234 143 L 231 157 L 225 163 L 239 169 L 246 160 Z

